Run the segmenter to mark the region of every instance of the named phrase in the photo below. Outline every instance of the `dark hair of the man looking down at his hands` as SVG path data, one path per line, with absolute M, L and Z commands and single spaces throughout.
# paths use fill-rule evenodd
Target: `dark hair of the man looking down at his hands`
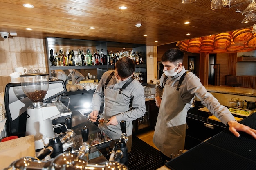
M 121 78 L 127 78 L 134 73 L 135 62 L 128 57 L 122 57 L 115 64 L 115 69 L 117 70 L 118 76 Z

